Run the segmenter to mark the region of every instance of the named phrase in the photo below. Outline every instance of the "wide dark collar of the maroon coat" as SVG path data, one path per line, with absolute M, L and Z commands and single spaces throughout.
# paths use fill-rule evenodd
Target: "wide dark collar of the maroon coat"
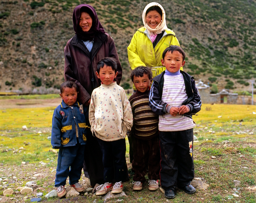
M 93 48 L 91 49 L 91 52 L 86 48 L 84 45 L 82 39 L 78 37 L 78 35 L 74 35 L 72 38 L 70 44 L 79 47 L 82 49 L 88 57 L 93 60 L 94 56 L 97 54 L 99 47 L 101 47 L 102 43 L 106 40 L 107 34 L 102 33 L 102 32 L 97 32 L 94 36 L 94 42 L 93 42 Z

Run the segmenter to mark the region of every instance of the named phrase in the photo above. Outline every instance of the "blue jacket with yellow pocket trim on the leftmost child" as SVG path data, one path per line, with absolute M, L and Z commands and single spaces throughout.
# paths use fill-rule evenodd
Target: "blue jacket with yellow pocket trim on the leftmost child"
M 90 133 L 90 129 L 86 125 L 82 105 L 80 106 L 78 102 L 75 102 L 73 106 L 69 107 L 62 100 L 54 110 L 52 117 L 51 144 L 53 149 L 76 145 L 75 125 L 78 127 L 79 143 L 85 145 L 86 134 Z

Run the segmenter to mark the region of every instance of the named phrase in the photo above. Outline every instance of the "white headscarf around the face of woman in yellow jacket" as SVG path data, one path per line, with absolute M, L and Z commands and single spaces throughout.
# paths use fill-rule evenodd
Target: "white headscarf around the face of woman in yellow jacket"
M 147 24 L 146 12 L 147 12 L 148 8 L 150 8 L 150 7 L 154 6 L 154 5 L 158 6 L 159 8 L 162 9 L 162 22 L 160 24 L 158 24 L 158 26 L 155 29 L 152 29 Z M 143 20 L 144 27 L 148 30 L 149 35 L 160 34 L 163 30 L 167 29 L 166 21 L 165 21 L 165 10 L 163 9 L 163 7 L 160 4 L 158 4 L 156 2 L 151 2 L 148 5 L 146 5 L 146 7 L 144 8 L 144 11 L 142 13 L 142 20 Z

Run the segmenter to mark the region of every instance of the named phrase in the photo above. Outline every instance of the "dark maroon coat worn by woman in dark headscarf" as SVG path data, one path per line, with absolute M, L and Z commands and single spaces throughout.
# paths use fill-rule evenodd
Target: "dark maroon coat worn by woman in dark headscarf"
M 114 81 L 120 84 L 122 68 L 113 39 L 107 33 L 97 32 L 91 52 L 77 35 L 69 39 L 64 48 L 65 81 L 73 81 L 78 85 L 78 102 L 84 104 L 91 98 L 93 89 L 101 84 L 96 76 L 97 63 L 105 57 L 113 57 L 117 62 L 117 77 Z

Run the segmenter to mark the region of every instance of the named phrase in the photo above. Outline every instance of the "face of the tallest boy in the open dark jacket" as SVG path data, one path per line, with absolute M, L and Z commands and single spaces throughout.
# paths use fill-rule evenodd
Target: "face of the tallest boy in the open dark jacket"
M 180 67 L 185 65 L 185 61 L 182 61 L 182 54 L 178 51 L 173 51 L 173 53 L 171 51 L 166 52 L 165 58 L 161 62 L 166 70 L 171 73 L 176 73 L 180 70 Z

